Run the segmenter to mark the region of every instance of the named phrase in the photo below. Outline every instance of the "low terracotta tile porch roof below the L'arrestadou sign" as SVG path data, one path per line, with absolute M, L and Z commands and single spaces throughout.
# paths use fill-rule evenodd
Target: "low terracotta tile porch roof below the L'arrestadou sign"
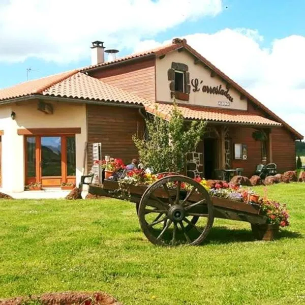
M 146 105 L 145 109 L 149 113 L 159 114 L 164 119 L 169 119 L 173 110 L 173 105 L 154 103 Z M 282 126 L 281 123 L 259 115 L 251 114 L 247 111 L 212 109 L 190 105 L 178 105 L 178 109 L 181 111 L 185 119 L 202 119 L 211 122 L 225 122 L 257 126 Z

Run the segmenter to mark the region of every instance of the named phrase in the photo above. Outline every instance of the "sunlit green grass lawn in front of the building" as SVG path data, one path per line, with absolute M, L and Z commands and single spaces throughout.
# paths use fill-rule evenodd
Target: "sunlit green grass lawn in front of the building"
M 256 188 L 262 192 L 261 188 Z M 216 219 L 200 247 L 161 248 L 132 203 L 0 201 L 0 298 L 106 291 L 124 304 L 305 302 L 305 184 L 268 187 L 291 226 L 272 242 L 250 224 Z

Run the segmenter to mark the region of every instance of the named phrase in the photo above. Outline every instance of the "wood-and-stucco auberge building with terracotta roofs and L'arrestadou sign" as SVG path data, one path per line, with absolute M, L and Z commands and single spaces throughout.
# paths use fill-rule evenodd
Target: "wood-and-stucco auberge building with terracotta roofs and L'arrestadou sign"
M 21 192 L 35 181 L 78 183 L 92 168 L 93 143 L 101 143 L 102 156 L 129 162 L 137 156 L 132 135 L 143 134 L 145 115 L 168 118 L 173 97 L 186 120 L 208 123 L 188 156 L 190 176 L 236 167 L 251 176 L 269 162 L 279 171 L 295 168 L 295 140 L 303 136 L 186 40 L 111 62 L 104 62 L 97 41 L 91 66 L 0 90 L 3 191 Z

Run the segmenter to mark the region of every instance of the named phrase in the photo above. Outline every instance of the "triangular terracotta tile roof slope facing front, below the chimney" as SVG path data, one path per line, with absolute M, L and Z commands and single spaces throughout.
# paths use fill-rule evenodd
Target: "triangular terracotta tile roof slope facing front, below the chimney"
M 81 72 L 48 87 L 42 92 L 42 95 L 139 105 L 150 103 L 137 95 Z

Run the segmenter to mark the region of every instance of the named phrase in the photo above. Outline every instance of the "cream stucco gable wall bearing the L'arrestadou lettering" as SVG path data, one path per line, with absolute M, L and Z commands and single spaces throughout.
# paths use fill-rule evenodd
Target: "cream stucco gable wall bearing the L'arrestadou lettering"
M 211 71 L 205 69 L 201 64 L 194 64 L 195 57 L 187 50 L 182 52 L 173 51 L 166 54 L 162 59 L 156 60 L 156 100 L 159 102 L 170 102 L 170 81 L 168 80 L 167 71 L 171 69 L 172 62 L 183 63 L 188 65 L 191 80 L 197 78 L 199 82 L 198 88 L 200 91 L 194 92 L 194 87 L 191 84 L 191 93 L 189 101 L 179 101 L 186 104 L 200 105 L 207 107 L 217 107 L 223 109 L 239 109 L 247 110 L 247 101 L 240 99 L 240 94 L 234 88 L 229 89 L 229 95 L 233 98 L 233 102 L 230 102 L 226 96 L 220 94 L 209 94 L 202 92 L 202 86 L 207 85 L 211 87 L 222 86 L 222 89 L 226 89 L 226 83 L 218 76 L 211 77 Z M 200 84 L 200 82 L 202 83 Z M 222 102 L 227 106 L 220 106 L 218 102 Z M 229 103 L 226 103 L 229 102 Z

